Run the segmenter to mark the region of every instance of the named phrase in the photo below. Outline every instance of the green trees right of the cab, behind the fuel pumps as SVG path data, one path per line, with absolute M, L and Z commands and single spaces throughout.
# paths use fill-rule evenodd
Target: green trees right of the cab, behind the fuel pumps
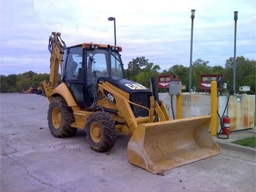
M 228 90 L 233 90 L 233 68 L 234 58 L 230 57 L 226 60 L 225 67 L 209 66 L 209 61 L 203 61 L 200 58 L 192 63 L 191 87 L 196 87 L 199 90 L 199 79 L 203 74 L 223 75 L 228 82 Z M 236 58 L 236 88 L 239 91 L 239 86 L 250 86 L 250 92 L 247 94 L 255 94 L 255 72 L 256 61 L 245 59 L 243 56 Z M 173 65 L 168 70 L 163 70 L 162 73 L 159 65 L 154 65 L 145 57 L 137 57 L 128 64 L 128 74 L 131 80 L 145 86 L 150 86 L 149 78 L 158 77 L 158 75 L 177 75 L 182 85 L 186 85 L 186 92 L 189 90 L 189 67 L 183 65 Z M 159 91 L 159 90 L 158 90 Z

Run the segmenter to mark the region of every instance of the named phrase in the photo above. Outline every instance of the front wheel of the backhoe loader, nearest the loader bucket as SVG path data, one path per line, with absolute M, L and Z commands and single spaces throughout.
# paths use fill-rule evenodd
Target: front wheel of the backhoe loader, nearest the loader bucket
M 115 145 L 117 135 L 115 122 L 106 112 L 92 113 L 87 119 L 85 132 L 91 148 L 95 151 L 108 151 Z

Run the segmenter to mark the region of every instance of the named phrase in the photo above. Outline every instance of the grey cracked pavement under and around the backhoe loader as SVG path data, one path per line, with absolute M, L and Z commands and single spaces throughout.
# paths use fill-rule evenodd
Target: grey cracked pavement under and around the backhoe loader
M 47 98 L 2 93 L 0 191 L 255 191 L 255 149 L 231 143 L 255 128 L 213 139 L 221 154 L 151 174 L 127 160 L 129 137 L 105 153 L 91 150 L 84 130 L 55 138 Z

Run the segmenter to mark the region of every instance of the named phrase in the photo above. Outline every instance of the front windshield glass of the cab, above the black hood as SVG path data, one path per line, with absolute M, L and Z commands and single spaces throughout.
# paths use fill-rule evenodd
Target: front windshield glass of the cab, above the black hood
M 123 76 L 123 64 L 117 51 L 111 51 L 111 67 L 108 67 L 108 51 L 106 49 L 94 49 L 87 51 L 87 75 L 90 73 L 99 77 L 119 77 Z

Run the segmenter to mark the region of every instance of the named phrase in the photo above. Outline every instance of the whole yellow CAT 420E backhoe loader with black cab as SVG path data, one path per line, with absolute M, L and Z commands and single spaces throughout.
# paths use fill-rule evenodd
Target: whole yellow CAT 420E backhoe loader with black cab
M 170 120 L 151 89 L 124 78 L 122 47 L 82 43 L 66 47 L 61 34 L 49 38 L 49 129 L 57 138 L 84 129 L 93 150 L 108 151 L 118 132 L 130 135 L 129 162 L 160 173 L 220 153 L 210 133 L 210 116 Z M 61 74 L 61 79 L 59 78 Z

